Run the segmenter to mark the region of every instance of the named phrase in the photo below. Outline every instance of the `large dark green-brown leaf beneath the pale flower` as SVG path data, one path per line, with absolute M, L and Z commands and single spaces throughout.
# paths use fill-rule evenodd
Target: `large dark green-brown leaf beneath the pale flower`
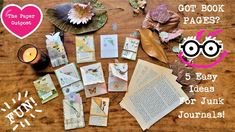
M 72 3 L 63 4 L 58 10 L 57 8 L 49 8 L 45 16 L 48 20 L 58 27 L 60 30 L 70 32 L 72 34 L 84 34 L 94 32 L 102 28 L 108 20 L 107 11 L 102 3 L 97 0 L 73 0 L 74 3 L 90 3 L 93 7 L 95 15 L 87 24 L 72 24 L 68 19 L 68 12 L 72 8 Z

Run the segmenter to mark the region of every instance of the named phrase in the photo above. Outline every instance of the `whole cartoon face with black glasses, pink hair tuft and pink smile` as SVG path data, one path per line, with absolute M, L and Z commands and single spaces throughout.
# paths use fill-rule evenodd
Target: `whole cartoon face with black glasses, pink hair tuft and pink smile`
M 222 29 L 217 29 L 214 32 L 210 32 L 205 41 L 201 44 L 198 40 L 202 38 L 202 34 L 205 32 L 204 29 L 200 30 L 195 37 L 188 37 L 184 39 L 184 42 L 179 45 L 180 53 L 178 57 L 181 62 L 183 62 L 187 66 L 195 67 L 195 68 L 212 68 L 219 64 L 227 55 L 227 51 L 223 51 L 223 43 L 220 40 L 216 39 L 216 35 L 221 33 Z M 194 59 L 202 54 L 204 57 L 208 59 L 214 59 L 220 57 L 210 64 L 200 65 L 189 62 L 183 58 Z

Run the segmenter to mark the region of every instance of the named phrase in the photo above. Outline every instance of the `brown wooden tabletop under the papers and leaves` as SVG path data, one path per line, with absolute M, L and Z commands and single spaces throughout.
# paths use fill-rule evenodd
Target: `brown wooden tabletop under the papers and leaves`
M 95 44 L 96 44 L 96 57 L 97 62 L 101 62 L 105 79 L 108 78 L 108 63 L 114 62 L 114 59 L 100 59 L 100 47 L 99 47 L 99 36 L 102 34 L 114 34 L 119 35 L 119 55 L 123 47 L 125 37 L 129 36 L 130 33 L 141 27 L 141 23 L 144 19 L 144 15 L 133 17 L 132 8 L 129 6 L 127 0 L 101 0 L 107 8 L 122 8 L 120 10 L 109 11 L 108 23 L 99 31 L 94 33 Z M 218 79 L 215 83 L 210 81 L 203 81 L 202 86 L 214 86 L 214 93 L 196 93 L 196 99 L 200 101 L 201 97 L 207 98 L 218 98 L 222 97 L 225 99 L 224 105 L 201 105 L 199 102 L 195 105 L 182 105 L 170 114 L 162 118 L 159 122 L 155 123 L 149 131 L 235 131 L 235 89 L 234 89 L 234 78 L 235 78 L 235 46 L 234 46 L 234 34 L 235 34 L 235 1 L 234 0 L 198 0 L 190 2 L 189 0 L 147 0 L 147 9 L 155 7 L 155 5 L 164 2 L 169 4 L 169 8 L 177 11 L 179 4 L 224 4 L 224 13 L 201 13 L 197 10 L 195 13 L 180 13 L 182 16 L 210 16 L 218 15 L 221 17 L 221 22 L 215 25 L 183 25 L 181 28 L 185 30 L 184 35 L 190 36 L 195 35 L 199 29 L 208 29 L 210 31 L 216 28 L 224 29 L 224 32 L 219 35 L 219 39 L 223 40 L 225 49 L 229 50 L 230 54 L 216 67 L 210 69 L 197 69 L 198 72 L 202 73 L 213 73 L 218 74 Z M 4 5 L 15 3 L 23 6 L 28 3 L 34 3 L 41 7 L 42 11 L 49 7 L 54 7 L 56 4 L 66 2 L 66 0 L 5 0 Z M 112 30 L 112 24 L 118 25 L 118 30 Z M 60 90 L 58 82 L 56 80 L 54 70 L 52 68 L 46 69 L 41 73 L 35 73 L 30 66 L 22 64 L 17 59 L 17 50 L 24 44 L 32 43 L 38 46 L 40 49 L 45 49 L 45 35 L 54 31 L 54 27 L 45 18 L 40 28 L 27 37 L 26 39 L 20 40 L 11 35 L 2 25 L 0 25 L 0 104 L 4 102 L 10 102 L 12 98 L 17 97 L 18 92 L 29 91 L 29 96 L 32 96 L 38 102 L 38 109 L 42 109 L 43 113 L 37 113 L 36 118 L 29 120 L 31 126 L 27 128 L 19 127 L 19 131 L 63 131 L 63 107 L 62 99 L 63 94 Z M 68 53 L 69 61 L 75 62 L 75 36 L 69 33 L 65 34 L 65 47 Z M 176 42 L 170 42 L 169 46 L 172 47 L 177 45 Z M 172 62 L 177 59 L 176 55 L 172 53 L 171 49 L 167 49 L 167 56 Z M 140 48 L 138 52 L 138 58 L 166 66 L 157 60 L 148 57 L 145 52 Z M 120 62 L 128 62 L 129 64 L 129 80 L 131 79 L 133 70 L 136 62 L 127 61 L 119 58 Z M 196 63 L 207 64 L 207 59 L 197 59 Z M 88 65 L 79 64 L 78 67 Z M 59 91 L 59 97 L 42 105 L 37 96 L 36 90 L 33 86 L 33 81 L 38 77 L 50 73 L 53 81 Z M 88 126 L 90 102 L 91 99 L 86 99 L 84 92 L 81 92 L 83 97 L 83 106 L 85 112 L 86 127 L 83 129 L 76 129 L 74 131 L 141 131 L 140 126 L 136 120 L 126 111 L 121 109 L 119 102 L 122 100 L 125 93 L 108 93 L 102 97 L 109 97 L 111 100 L 109 110 L 108 127 L 92 127 Z M 3 105 L 0 105 L 3 106 Z M 13 108 L 16 106 L 13 106 Z M 193 111 L 204 111 L 209 112 L 225 111 L 225 119 L 179 119 L 177 115 L 179 111 L 183 110 L 186 112 Z M 0 131 L 11 131 L 12 126 L 9 125 L 9 121 L 4 117 L 6 113 L 0 112 Z

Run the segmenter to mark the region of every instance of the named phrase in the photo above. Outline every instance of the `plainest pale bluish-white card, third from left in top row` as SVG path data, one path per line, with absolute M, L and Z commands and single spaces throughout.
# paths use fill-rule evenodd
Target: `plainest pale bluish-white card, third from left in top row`
M 118 35 L 100 36 L 101 58 L 118 58 Z

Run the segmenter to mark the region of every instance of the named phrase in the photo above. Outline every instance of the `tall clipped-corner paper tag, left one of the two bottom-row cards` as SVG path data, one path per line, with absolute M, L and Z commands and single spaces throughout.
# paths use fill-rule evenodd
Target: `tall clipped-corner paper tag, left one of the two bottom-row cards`
M 63 100 L 65 130 L 85 127 L 82 98 L 79 94 L 70 94 Z

